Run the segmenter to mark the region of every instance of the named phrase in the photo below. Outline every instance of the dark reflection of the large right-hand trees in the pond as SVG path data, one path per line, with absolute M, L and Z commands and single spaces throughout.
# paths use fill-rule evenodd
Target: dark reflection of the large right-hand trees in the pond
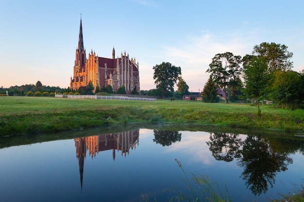
M 237 164 L 244 168 L 241 177 L 254 195 L 266 193 L 268 183 L 271 187 L 275 183 L 276 173 L 286 171 L 292 163 L 287 153 L 274 152 L 267 140 L 251 135 L 242 141 L 235 134 L 210 133 L 206 143 L 217 160 L 238 159 Z

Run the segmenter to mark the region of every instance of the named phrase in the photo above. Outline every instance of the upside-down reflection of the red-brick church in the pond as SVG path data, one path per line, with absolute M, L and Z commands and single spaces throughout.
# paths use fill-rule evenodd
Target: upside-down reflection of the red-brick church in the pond
M 102 134 L 83 138 L 75 138 L 76 157 L 79 163 L 80 183 L 83 186 L 84 158 L 86 152 L 93 158 L 98 152 L 112 150 L 113 160 L 116 151 L 125 155 L 136 148 L 139 144 L 139 129 L 124 131 L 120 133 Z

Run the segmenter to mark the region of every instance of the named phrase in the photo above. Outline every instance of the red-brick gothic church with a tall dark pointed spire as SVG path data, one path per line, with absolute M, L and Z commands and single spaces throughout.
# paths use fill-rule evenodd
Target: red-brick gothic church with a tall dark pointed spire
M 129 54 L 121 53 L 120 58 L 115 58 L 115 49 L 112 50 L 112 58 L 102 58 L 95 55 L 91 50 L 86 58 L 83 39 L 82 19 L 80 19 L 80 30 L 76 59 L 73 68 L 73 78 L 70 78 L 70 89 L 76 90 L 81 86 L 87 86 L 91 81 L 93 86 L 112 86 L 114 92 L 120 86 L 124 86 L 126 93 L 133 90 L 140 92 L 139 88 L 139 65 L 135 58 L 129 59 Z

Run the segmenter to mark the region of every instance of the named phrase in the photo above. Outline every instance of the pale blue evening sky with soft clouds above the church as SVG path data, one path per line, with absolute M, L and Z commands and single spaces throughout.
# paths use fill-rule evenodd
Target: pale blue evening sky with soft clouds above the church
M 0 87 L 68 88 L 81 17 L 86 56 L 126 52 L 141 90 L 155 88 L 153 66 L 170 62 L 190 92 L 202 91 L 216 54 L 243 57 L 263 42 L 286 45 L 299 72 L 303 9 L 303 0 L 0 0 Z

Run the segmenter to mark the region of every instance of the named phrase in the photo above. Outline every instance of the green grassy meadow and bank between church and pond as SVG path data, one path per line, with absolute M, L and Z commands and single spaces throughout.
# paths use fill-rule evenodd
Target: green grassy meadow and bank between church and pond
M 304 110 L 200 101 L 0 97 L 0 136 L 136 122 L 214 124 L 303 132 Z

